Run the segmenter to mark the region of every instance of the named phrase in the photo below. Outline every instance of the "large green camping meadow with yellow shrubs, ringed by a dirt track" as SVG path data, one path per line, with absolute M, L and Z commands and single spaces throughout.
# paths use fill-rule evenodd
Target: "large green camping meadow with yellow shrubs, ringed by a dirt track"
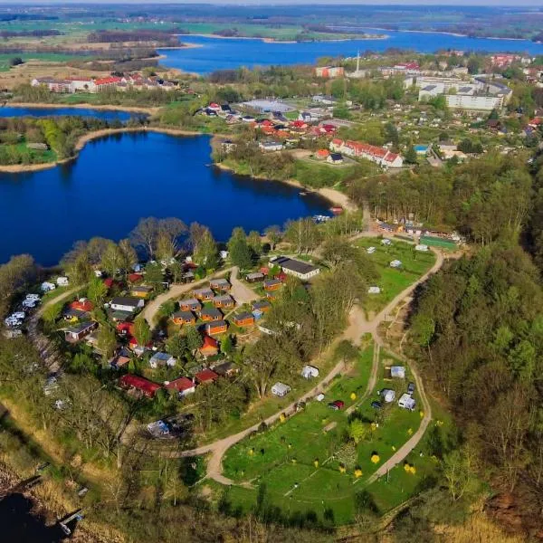
M 279 508 L 285 517 L 316 515 L 323 524 L 340 525 L 353 520 L 357 501 L 366 491 L 380 513 L 410 497 L 421 479 L 435 469 L 435 461 L 428 458 L 424 444 L 407 459 L 414 472 L 406 471 L 402 463 L 389 474 L 388 482 L 367 485 L 370 475 L 409 439 L 421 420 L 418 409 L 406 411 L 396 403 L 379 413 L 371 407 L 377 399 L 376 390 L 393 387 L 390 380 L 385 380 L 385 364 L 397 361 L 384 352 L 378 357 L 376 389 L 363 398 L 373 357 L 374 348 L 370 346 L 361 352 L 355 367 L 337 379 L 323 402 L 311 401 L 299 414 L 226 453 L 224 475 L 243 482 L 243 486 L 233 485 L 227 491 L 215 488 L 224 491 L 228 508 L 249 511 L 258 500 L 261 507 L 263 502 L 267 507 Z M 407 370 L 405 380 L 395 386 L 399 393 L 409 378 Z M 418 399 L 416 393 L 414 397 Z M 345 403 L 344 409 L 329 408 L 329 402 L 336 400 Z M 346 445 L 353 419 L 373 428 L 356 446 Z M 378 460 L 374 457 L 372 462 L 374 454 Z

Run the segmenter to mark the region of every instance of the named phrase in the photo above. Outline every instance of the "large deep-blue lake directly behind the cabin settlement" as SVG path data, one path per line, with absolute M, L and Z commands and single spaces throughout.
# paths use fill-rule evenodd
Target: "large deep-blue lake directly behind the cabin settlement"
M 196 221 L 226 241 L 234 226 L 262 232 L 328 213 L 318 195 L 209 167 L 209 143 L 207 136 L 117 134 L 91 141 L 67 164 L 0 173 L 0 262 L 28 252 L 53 265 L 77 240 L 128 236 L 140 217 Z

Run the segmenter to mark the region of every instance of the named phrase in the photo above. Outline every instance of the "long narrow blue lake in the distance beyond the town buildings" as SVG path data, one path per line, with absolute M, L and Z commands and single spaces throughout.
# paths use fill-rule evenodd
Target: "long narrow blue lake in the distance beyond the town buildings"
M 266 43 L 262 40 L 242 38 L 210 38 L 196 35 L 180 36 L 182 43 L 194 43 L 199 47 L 187 49 L 162 49 L 167 56 L 161 64 L 170 68 L 195 73 L 209 73 L 246 66 L 270 66 L 271 64 L 313 64 L 324 56 L 356 56 L 357 51 L 380 52 L 389 47 L 411 49 L 417 52 L 434 52 L 438 49 L 485 52 L 529 52 L 543 54 L 543 44 L 529 40 L 499 40 L 492 38 L 468 38 L 446 33 L 420 33 L 361 29 L 367 33 L 386 33 L 385 40 L 348 40 L 338 42 Z

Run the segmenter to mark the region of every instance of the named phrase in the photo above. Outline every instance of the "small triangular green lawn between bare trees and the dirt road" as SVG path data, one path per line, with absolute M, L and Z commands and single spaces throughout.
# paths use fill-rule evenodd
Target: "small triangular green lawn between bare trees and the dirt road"
M 368 314 L 382 310 L 389 301 L 394 300 L 395 296 L 424 275 L 435 262 L 433 252 L 414 251 L 413 244 L 399 240 L 392 240 L 391 245 L 382 245 L 379 238 L 361 238 L 357 241 L 357 246 L 364 250 L 367 247 L 376 248 L 376 252 L 370 254 L 369 258 L 376 262 L 379 279 L 375 286 L 379 287 L 381 292 L 367 295 L 364 306 Z M 393 260 L 401 261 L 401 268 L 391 268 L 390 262 Z

